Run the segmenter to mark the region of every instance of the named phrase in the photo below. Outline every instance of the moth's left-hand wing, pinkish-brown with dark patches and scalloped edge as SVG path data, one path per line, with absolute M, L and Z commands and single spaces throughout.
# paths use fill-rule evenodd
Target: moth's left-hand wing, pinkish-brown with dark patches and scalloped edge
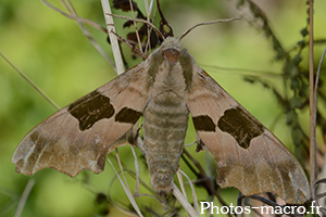
M 135 137 L 136 124 L 149 97 L 145 87 L 146 63 L 130 68 L 32 129 L 12 156 L 16 171 L 33 175 L 51 167 L 72 177 L 83 169 L 101 173 L 106 154 Z

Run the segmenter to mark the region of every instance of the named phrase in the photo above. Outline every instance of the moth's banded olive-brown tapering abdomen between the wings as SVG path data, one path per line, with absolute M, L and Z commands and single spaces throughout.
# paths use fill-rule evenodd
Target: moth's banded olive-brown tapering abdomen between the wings
M 167 196 L 184 148 L 188 107 L 184 99 L 168 91 L 149 101 L 143 112 L 145 153 L 151 183 Z

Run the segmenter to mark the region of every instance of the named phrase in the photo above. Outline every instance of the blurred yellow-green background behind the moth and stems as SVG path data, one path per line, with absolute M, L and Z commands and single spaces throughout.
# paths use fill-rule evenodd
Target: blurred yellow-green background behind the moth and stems
M 50 2 L 62 9 L 59 1 Z M 79 16 L 104 26 L 100 0 L 72 2 Z M 180 36 L 190 26 L 201 22 L 250 15 L 247 10 L 238 10 L 237 2 L 236 0 L 177 2 L 163 0 L 161 4 L 175 36 Z M 306 24 L 305 1 L 255 0 L 254 2 L 264 10 L 271 22 L 269 26 L 286 49 L 292 48 L 302 39 L 300 29 Z M 137 3 L 145 12 L 143 2 Z M 315 1 L 315 38 L 326 36 L 325 9 L 325 1 Z M 129 15 L 114 10 L 113 13 Z M 124 21 L 117 18 L 115 21 L 117 33 L 125 37 L 129 29 L 121 28 Z M 271 91 L 260 85 L 243 81 L 242 76 L 247 74 L 246 72 L 239 74 L 233 71 L 233 68 L 242 68 L 281 73 L 281 63 L 273 61 L 275 53 L 271 42 L 253 26 L 243 20 L 202 26 L 184 38 L 181 44 L 224 89 L 267 128 L 273 126 L 273 132 L 289 145 L 289 149 L 292 149 L 285 116 L 280 115 L 281 111 Z M 111 47 L 105 42 L 106 36 L 92 27 L 87 26 L 87 28 L 112 56 Z M 128 51 L 128 48 L 124 47 L 124 50 Z M 49 9 L 39 0 L 0 1 L 0 51 L 60 106 L 65 106 L 115 77 L 112 67 L 93 49 L 76 23 Z M 316 62 L 322 52 L 323 48 L 315 49 Z M 304 56 L 302 67 L 308 68 L 308 50 L 305 49 L 302 54 Z M 126 54 L 126 58 L 130 66 L 141 61 L 131 60 L 129 54 Z M 264 73 L 261 76 L 281 89 L 279 77 L 267 76 Z M 14 149 L 29 129 L 54 112 L 55 108 L 0 58 L 0 216 L 14 215 L 30 179 L 14 171 L 14 164 L 11 163 Z M 306 123 L 308 130 L 306 114 L 302 119 Z M 274 126 L 276 117 L 280 118 Z M 193 133 L 188 136 L 186 143 L 195 141 Z M 195 146 L 189 148 L 191 153 L 195 149 Z M 134 158 L 129 148 L 120 149 L 120 154 L 124 163 L 133 168 Z M 138 156 L 140 156 L 139 152 Z M 205 153 L 193 154 L 193 156 L 198 156 L 198 159 L 204 164 Z M 143 158 L 140 157 L 139 161 L 143 164 Z M 101 207 L 95 203 L 96 193 L 106 193 L 109 181 L 113 176 L 110 165 L 106 165 L 105 170 L 100 175 L 82 173 L 75 179 L 53 169 L 40 170 L 32 177 L 35 184 L 22 216 L 97 216 Z M 146 169 L 142 169 L 141 176 L 150 184 Z M 115 183 L 110 191 L 114 199 L 127 204 L 125 193 L 118 183 Z M 201 190 L 198 191 L 201 195 Z M 225 192 L 225 200 L 235 204 L 237 194 L 228 196 L 229 191 Z M 147 205 L 153 203 L 153 206 L 162 209 L 162 206 L 151 199 L 142 200 Z M 112 207 L 110 212 L 109 216 L 118 213 Z

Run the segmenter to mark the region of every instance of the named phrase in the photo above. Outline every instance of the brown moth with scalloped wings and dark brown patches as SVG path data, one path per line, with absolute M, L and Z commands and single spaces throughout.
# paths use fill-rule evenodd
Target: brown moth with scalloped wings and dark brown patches
M 16 171 L 54 168 L 75 177 L 104 169 L 116 146 L 135 143 L 142 116 L 143 152 L 151 184 L 161 196 L 172 189 L 189 114 L 198 151 L 212 153 L 217 183 L 242 194 L 274 192 L 290 204 L 310 199 L 304 171 L 287 148 L 167 37 L 147 60 L 54 113 L 16 148 Z

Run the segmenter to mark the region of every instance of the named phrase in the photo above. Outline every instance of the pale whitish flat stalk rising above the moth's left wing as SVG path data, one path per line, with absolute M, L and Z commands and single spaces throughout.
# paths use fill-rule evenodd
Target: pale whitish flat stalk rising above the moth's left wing
M 106 14 L 112 14 L 110 3 L 108 0 L 101 0 L 101 2 L 102 2 L 103 13 L 104 13 L 104 17 L 105 17 L 108 34 L 109 34 L 109 38 L 111 41 L 113 55 L 114 55 L 116 72 L 117 72 L 117 75 L 120 75 L 125 71 L 125 68 L 124 68 L 124 64 L 122 61 L 122 55 L 121 55 L 121 50 L 118 48 L 117 38 L 114 34 L 111 33 L 111 31 L 116 33 L 115 27 L 114 27 L 113 17 L 110 15 L 106 15 Z

